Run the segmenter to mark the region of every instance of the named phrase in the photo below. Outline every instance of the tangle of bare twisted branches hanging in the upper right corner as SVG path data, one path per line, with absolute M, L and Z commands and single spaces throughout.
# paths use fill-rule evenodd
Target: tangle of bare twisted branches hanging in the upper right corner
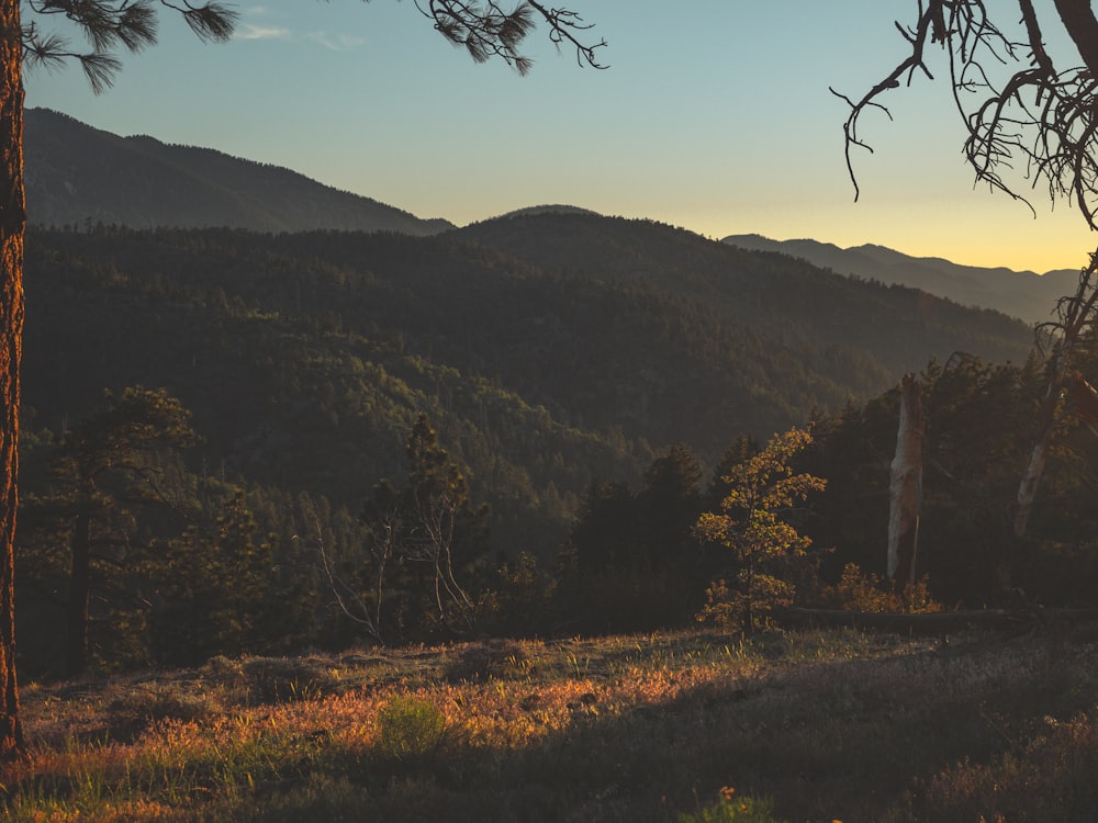
M 851 153 L 870 149 L 858 131 L 861 115 L 869 109 L 887 113 L 879 99 L 901 79 L 910 82 L 916 69 L 929 77 L 926 48 L 939 44 L 949 61 L 954 105 L 967 131 L 964 155 L 976 181 L 1028 204 L 1017 182 L 1007 178 L 1020 174 L 1030 188 L 1043 180 L 1051 200 L 1074 201 L 1087 224 L 1098 228 L 1098 21 L 1089 0 L 1055 0 L 1086 64 L 1064 68 L 1049 53 L 1032 0 L 1017 2 L 1017 40 L 989 20 L 984 0 L 920 2 L 912 26 L 897 23 L 908 48 L 896 67 L 856 101 L 833 92 L 850 106 L 843 132 L 855 200 Z

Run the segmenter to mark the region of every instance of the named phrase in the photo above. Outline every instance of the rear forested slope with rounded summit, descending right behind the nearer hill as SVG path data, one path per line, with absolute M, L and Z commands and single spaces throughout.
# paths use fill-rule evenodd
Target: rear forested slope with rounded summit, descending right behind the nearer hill
M 479 223 L 456 234 L 545 271 L 654 285 L 719 311 L 726 323 L 764 329 L 771 341 L 809 350 L 860 349 L 892 373 L 953 351 L 1018 360 L 1031 341 L 1022 324 L 996 312 L 840 277 L 650 221 L 542 214 Z

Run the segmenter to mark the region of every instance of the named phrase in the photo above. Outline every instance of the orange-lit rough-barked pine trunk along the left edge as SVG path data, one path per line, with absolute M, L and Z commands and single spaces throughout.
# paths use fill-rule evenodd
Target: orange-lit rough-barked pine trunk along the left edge
M 0 0 L 0 759 L 25 751 L 15 678 L 15 510 L 23 349 L 23 77 L 19 0 Z

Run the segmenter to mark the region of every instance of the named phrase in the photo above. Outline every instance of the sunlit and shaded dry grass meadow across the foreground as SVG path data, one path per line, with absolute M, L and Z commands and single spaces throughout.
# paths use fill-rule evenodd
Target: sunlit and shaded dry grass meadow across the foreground
M 15 821 L 675 821 L 731 786 L 798 822 L 1091 821 L 1096 652 L 1078 631 L 692 632 L 216 658 L 24 689 L 32 758 L 0 801 Z

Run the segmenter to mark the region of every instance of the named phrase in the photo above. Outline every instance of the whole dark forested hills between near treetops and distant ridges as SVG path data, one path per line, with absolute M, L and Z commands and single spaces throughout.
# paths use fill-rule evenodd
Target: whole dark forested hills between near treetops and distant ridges
M 545 214 L 444 236 L 36 230 L 29 424 L 164 386 L 209 472 L 352 506 L 427 412 L 503 548 L 551 551 L 592 477 L 683 441 L 709 464 L 1024 326 L 647 222 Z

